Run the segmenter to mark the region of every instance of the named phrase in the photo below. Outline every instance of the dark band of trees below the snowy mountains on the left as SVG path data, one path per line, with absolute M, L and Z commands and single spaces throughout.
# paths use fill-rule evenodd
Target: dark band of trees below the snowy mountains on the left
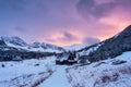
M 0 61 L 21 61 L 25 59 L 39 59 L 55 54 L 55 52 L 35 52 L 25 51 L 12 47 L 0 47 Z

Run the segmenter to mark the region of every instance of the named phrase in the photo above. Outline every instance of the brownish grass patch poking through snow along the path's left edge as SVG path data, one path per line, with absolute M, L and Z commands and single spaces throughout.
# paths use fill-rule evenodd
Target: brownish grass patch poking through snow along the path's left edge
M 21 75 L 12 78 L 9 83 L 11 87 L 37 87 L 46 80 L 53 72 L 41 72 L 38 74 Z

